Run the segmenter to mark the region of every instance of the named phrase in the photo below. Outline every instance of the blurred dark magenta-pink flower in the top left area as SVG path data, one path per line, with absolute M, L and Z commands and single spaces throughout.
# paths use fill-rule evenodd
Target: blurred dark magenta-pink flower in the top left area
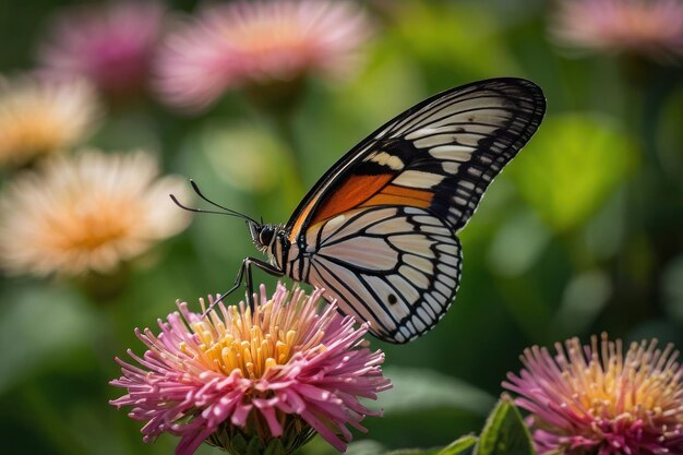
M 39 49 L 50 74 L 81 76 L 112 97 L 134 95 L 147 82 L 164 10 L 155 1 L 127 0 L 65 10 Z

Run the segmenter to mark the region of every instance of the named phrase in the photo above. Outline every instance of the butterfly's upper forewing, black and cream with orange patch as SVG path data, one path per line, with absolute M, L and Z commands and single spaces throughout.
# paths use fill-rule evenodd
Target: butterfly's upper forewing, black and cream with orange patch
M 287 224 L 305 227 L 360 205 L 428 207 L 465 226 L 493 178 L 536 132 L 546 98 L 523 79 L 453 88 L 391 120 L 337 161 Z

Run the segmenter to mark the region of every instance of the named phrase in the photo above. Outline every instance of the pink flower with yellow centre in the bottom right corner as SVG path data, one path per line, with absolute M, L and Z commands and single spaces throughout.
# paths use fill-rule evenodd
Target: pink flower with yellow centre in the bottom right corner
M 503 383 L 531 412 L 539 454 L 683 453 L 683 370 L 672 345 L 633 343 L 624 355 L 622 342 L 603 334 L 555 349 L 526 349 L 525 368 Z

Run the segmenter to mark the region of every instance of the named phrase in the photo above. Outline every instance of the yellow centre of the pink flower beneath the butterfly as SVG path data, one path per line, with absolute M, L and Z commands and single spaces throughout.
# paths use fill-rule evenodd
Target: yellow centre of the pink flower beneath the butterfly
M 256 306 L 252 315 L 249 308 L 240 311 L 232 306 L 226 309 L 225 322 L 215 311 L 194 322 L 191 327 L 202 343 L 202 361 L 226 375 L 238 369 L 244 378 L 256 380 L 273 367 L 287 363 L 296 351 L 325 349 L 320 344 L 324 332 L 307 334 L 308 314 L 300 319 L 298 309 L 273 311 L 272 307 L 272 301 Z

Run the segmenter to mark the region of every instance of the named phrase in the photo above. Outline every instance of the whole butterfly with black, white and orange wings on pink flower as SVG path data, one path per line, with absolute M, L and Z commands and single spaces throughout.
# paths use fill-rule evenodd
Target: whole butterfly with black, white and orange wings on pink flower
M 383 340 L 402 344 L 424 334 L 448 310 L 460 283 L 456 232 L 544 111 L 541 88 L 523 79 L 486 80 L 434 95 L 344 155 L 286 225 L 215 204 L 193 182 L 202 199 L 247 220 L 254 246 L 268 259 L 244 259 L 225 295 L 243 278 L 252 292 L 255 266 L 324 288 L 326 300 L 369 322 Z

